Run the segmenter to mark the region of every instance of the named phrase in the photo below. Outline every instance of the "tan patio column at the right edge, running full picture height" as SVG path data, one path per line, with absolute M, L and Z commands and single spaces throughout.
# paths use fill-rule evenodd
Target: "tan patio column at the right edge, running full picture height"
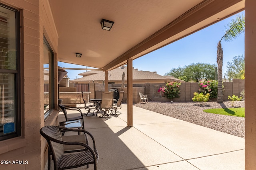
M 256 169 L 256 1 L 245 1 L 245 169 Z

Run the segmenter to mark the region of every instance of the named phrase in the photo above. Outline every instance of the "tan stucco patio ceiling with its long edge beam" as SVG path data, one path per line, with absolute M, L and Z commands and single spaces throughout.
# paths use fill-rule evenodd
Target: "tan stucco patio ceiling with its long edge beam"
M 58 61 L 111 70 L 244 9 L 244 0 L 49 0 Z M 101 29 L 102 18 L 114 21 Z M 77 58 L 75 53 L 82 53 Z

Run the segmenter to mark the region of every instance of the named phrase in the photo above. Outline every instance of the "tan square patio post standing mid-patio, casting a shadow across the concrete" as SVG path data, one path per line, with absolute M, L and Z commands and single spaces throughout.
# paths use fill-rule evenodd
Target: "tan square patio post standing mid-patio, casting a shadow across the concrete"
M 127 126 L 132 126 L 132 59 L 127 60 Z

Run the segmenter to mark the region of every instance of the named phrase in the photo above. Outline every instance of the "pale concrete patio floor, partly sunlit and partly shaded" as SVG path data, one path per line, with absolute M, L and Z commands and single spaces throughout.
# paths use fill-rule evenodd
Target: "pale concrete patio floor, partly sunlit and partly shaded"
M 135 106 L 127 127 L 127 105 L 120 111 L 110 119 L 84 117 L 100 155 L 98 170 L 244 170 L 243 138 Z M 58 120 L 65 120 L 62 112 Z

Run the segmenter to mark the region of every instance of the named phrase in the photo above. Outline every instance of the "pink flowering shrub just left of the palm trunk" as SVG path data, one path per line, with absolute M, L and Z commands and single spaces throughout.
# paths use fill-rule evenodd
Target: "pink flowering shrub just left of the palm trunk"
M 217 98 L 218 95 L 218 81 L 210 80 L 210 81 L 201 81 L 198 83 L 200 89 L 198 92 L 203 93 L 204 95 L 210 94 L 209 98 Z

